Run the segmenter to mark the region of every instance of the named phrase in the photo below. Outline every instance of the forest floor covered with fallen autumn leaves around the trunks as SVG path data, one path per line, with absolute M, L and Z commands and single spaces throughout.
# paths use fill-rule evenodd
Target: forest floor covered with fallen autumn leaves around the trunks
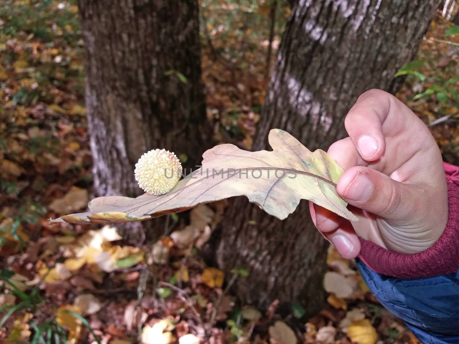
M 269 6 L 203 3 L 207 116 L 215 139 L 250 149 L 268 83 Z M 17 4 L 0 8 L 0 343 L 419 343 L 375 300 L 354 262 L 331 248 L 328 304 L 305 318 L 301 305 L 286 316 L 276 302 L 263 312 L 242 305 L 175 215 L 174 233 L 140 247 L 124 245 L 109 226 L 49 225 L 83 210 L 91 194 L 84 47 L 73 2 Z M 273 55 L 289 10 L 278 13 Z M 445 35 L 451 26 L 435 18 L 397 97 L 434 123 L 444 160 L 458 165 L 459 38 Z M 225 206 L 195 208 L 191 225 L 214 227 Z

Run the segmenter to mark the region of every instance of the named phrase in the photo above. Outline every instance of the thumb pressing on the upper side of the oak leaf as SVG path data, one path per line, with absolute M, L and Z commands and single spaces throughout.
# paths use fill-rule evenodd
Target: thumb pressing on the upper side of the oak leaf
M 374 169 L 355 166 L 341 176 L 338 195 L 350 205 L 383 217 L 393 225 L 403 224 L 420 209 L 422 192 L 414 185 L 399 183 Z

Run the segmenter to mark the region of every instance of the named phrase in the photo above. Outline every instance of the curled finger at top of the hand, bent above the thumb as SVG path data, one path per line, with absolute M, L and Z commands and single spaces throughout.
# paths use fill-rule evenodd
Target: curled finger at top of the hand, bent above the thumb
M 386 141 L 382 124 L 391 111 L 392 95 L 372 89 L 362 94 L 344 121 L 347 133 L 359 154 L 367 161 L 384 154 Z

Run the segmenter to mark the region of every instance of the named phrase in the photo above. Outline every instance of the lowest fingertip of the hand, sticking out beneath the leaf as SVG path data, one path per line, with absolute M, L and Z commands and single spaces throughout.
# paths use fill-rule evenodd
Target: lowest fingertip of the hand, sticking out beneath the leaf
M 343 221 L 335 231 L 325 233 L 325 237 L 345 259 L 353 259 L 360 253 L 360 240 L 351 222 L 347 220 Z

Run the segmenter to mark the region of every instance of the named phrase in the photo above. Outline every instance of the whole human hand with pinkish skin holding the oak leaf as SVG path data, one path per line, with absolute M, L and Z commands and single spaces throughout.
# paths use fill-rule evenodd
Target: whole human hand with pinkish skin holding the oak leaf
M 345 171 L 336 189 L 359 222 L 309 202 L 314 225 L 347 259 L 360 252 L 358 237 L 399 253 L 430 248 L 448 221 L 448 191 L 429 129 L 377 89 L 358 98 L 344 124 L 349 137 L 328 153 Z

